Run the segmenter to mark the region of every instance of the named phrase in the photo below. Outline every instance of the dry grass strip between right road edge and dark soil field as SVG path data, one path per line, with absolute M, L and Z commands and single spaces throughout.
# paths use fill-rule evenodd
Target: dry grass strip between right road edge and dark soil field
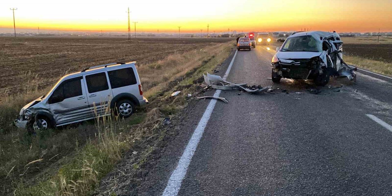
M 344 61 L 347 64 L 355 65 L 359 68 L 367 69 L 386 76 L 392 76 L 392 63 L 370 60 L 359 56 L 344 56 Z

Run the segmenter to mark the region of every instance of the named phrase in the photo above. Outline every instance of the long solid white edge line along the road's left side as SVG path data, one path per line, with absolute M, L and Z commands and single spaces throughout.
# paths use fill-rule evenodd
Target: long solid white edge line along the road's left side
M 236 56 L 237 56 L 237 50 L 236 53 L 234 53 L 234 56 L 229 64 L 229 67 L 227 67 L 227 71 L 225 75 L 223 76 L 224 80 L 227 78 L 227 76 L 229 76 L 230 69 L 234 63 L 234 58 L 236 58 Z M 220 93 L 221 90 L 216 90 L 213 96 L 217 97 L 219 96 Z M 185 177 L 185 174 L 187 173 L 189 163 L 191 163 L 193 154 L 196 151 L 201 136 L 203 135 L 205 126 L 207 125 L 208 120 L 211 117 L 216 101 L 217 101 L 216 99 L 212 99 L 208 104 L 207 109 L 205 109 L 203 116 L 201 116 L 199 124 L 197 125 L 195 131 L 193 132 L 191 140 L 189 140 L 187 147 L 185 148 L 185 151 L 183 152 L 180 158 L 180 161 L 178 161 L 178 165 L 176 169 L 172 172 L 169 181 L 167 182 L 166 188 L 162 193 L 162 196 L 176 196 L 178 194 L 178 191 L 180 191 L 181 182 Z

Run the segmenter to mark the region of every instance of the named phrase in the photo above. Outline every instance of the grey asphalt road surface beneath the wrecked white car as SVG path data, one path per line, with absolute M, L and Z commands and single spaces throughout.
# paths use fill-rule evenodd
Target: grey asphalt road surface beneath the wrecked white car
M 178 195 L 392 195 L 392 132 L 366 115 L 392 125 L 392 83 L 358 73 L 355 84 L 331 78 L 340 92 L 320 94 L 308 92 L 311 81 L 273 84 L 275 48 L 238 51 L 227 81 L 279 90 L 221 92 L 229 103 L 216 103 Z M 162 195 L 210 100 L 194 102 L 178 140 L 133 194 Z

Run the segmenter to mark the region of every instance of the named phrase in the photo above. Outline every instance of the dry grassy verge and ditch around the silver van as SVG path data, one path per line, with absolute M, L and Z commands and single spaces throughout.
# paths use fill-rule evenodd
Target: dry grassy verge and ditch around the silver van
M 174 114 L 185 104 L 181 96 L 168 99 L 157 94 L 168 95 L 174 86 L 175 90 L 187 92 L 187 85 L 223 62 L 231 47 L 231 43 L 214 44 L 138 67 L 153 108 L 140 108 L 123 124 L 105 118 L 95 125 L 87 122 L 71 129 L 38 132 L 35 136 L 9 125 L 25 103 L 46 93 L 37 88 L 42 79 L 36 74 L 21 73 L 30 84 L 24 87 L 24 94 L 0 102 L 0 192 L 9 194 L 16 188 L 16 195 L 89 195 L 133 141 L 140 140 L 148 146 L 152 136 L 161 134 L 162 116 Z M 176 85 L 169 85 L 173 80 Z M 136 128 L 138 123 L 144 126 Z M 160 142 L 159 138 L 162 137 L 155 141 Z M 144 156 L 152 151 L 147 146 Z M 142 161 L 135 163 L 135 169 L 140 164 Z

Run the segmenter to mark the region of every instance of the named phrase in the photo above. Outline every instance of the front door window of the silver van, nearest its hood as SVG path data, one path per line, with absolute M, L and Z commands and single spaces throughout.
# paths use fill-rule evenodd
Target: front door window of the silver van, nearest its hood
M 58 85 L 49 98 L 49 104 L 62 102 L 67 98 L 81 96 L 83 94 L 82 83 L 80 82 L 82 78 L 82 76 L 71 78 Z

